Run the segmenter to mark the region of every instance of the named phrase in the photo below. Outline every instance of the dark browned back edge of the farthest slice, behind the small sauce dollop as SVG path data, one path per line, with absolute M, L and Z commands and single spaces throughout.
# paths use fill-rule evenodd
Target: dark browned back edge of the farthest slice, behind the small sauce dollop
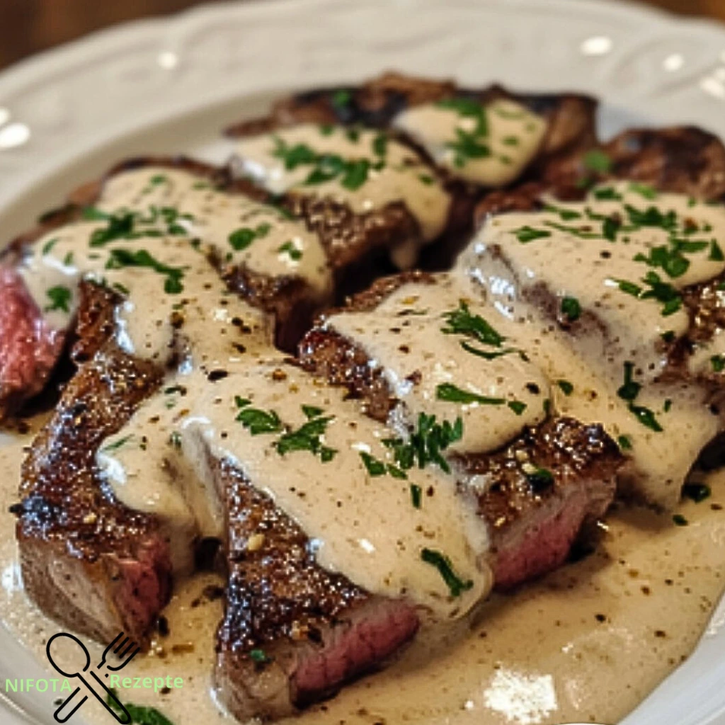
M 548 130 L 534 162 L 542 173 L 555 159 L 568 157 L 596 144 L 597 101 L 577 94 L 513 94 L 501 86 L 480 90 L 461 88 L 452 80 L 430 80 L 387 72 L 361 86 L 336 86 L 290 96 L 278 101 L 270 115 L 231 126 L 231 136 L 264 133 L 297 123 L 359 123 L 387 128 L 407 108 L 447 98 L 471 98 L 481 102 L 510 98 L 543 115 Z

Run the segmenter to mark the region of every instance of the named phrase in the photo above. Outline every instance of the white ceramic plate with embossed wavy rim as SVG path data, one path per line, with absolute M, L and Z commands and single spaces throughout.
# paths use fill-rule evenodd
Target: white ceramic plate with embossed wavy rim
M 218 130 L 275 94 L 388 68 L 595 94 L 605 135 L 695 123 L 725 137 L 725 30 L 708 22 L 613 0 L 210 5 L 97 33 L 0 75 L 2 239 L 119 158 L 221 160 Z M 43 676 L 0 629 L 0 683 L 21 673 Z M 724 682 L 721 606 L 697 653 L 622 725 L 724 725 Z M 51 697 L 13 697 L 3 725 L 54 722 Z

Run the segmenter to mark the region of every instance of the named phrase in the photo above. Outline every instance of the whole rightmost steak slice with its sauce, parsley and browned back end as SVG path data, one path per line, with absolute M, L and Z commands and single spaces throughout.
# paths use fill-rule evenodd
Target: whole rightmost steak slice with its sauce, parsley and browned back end
M 713 202 L 725 191 L 724 168 L 725 147 L 703 131 L 626 131 L 593 162 L 581 157 L 562 168 L 549 186 L 484 199 L 475 252 L 462 262 L 500 309 L 528 321 L 532 339 L 558 339 L 560 357 L 569 349 L 587 365 L 598 398 L 575 396 L 565 405 L 581 403 L 577 417 L 636 442 L 623 491 L 660 508 L 676 505 L 721 426 L 725 273 L 721 210 Z M 595 209 L 602 202 L 603 214 Z M 542 213 L 509 221 L 510 212 Z M 563 271 L 572 259 L 581 273 Z M 576 302 L 576 314 L 566 312 L 564 299 Z M 622 387 L 626 376 L 634 386 Z M 631 422 L 616 421 L 615 411 L 627 407 Z

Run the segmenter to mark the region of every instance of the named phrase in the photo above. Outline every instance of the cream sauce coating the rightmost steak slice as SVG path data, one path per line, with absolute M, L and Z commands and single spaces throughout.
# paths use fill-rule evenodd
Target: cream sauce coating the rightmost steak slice
M 626 479 L 631 479 L 629 484 L 645 500 L 674 508 L 682 480 L 700 450 L 718 431 L 719 420 L 708 409 L 707 394 L 699 386 L 656 380 L 666 365 L 660 336 L 667 331 L 679 336 L 687 330 L 684 309 L 663 315 L 661 302 L 626 294 L 612 280 L 624 279 L 646 289 L 642 278 L 654 271 L 677 291 L 716 276 L 725 263 L 711 259 L 711 239 L 723 239 L 725 210 L 690 202 L 687 196 L 676 194 L 645 199 L 627 183 L 601 188 L 613 189 L 622 199 L 603 201 L 592 197 L 580 203 L 551 202 L 564 215 L 581 215 L 568 220 L 553 211 L 489 219 L 459 265 L 480 283 L 489 302 L 499 310 L 501 320 L 509 321 L 508 326 L 498 323 L 502 332 L 508 331 L 514 340 L 525 340 L 531 360 L 541 365 L 552 381 L 571 384 L 568 395 L 555 386 L 557 409 L 582 421 L 602 423 L 620 442 L 625 436 L 631 444 L 631 450 L 624 451 L 632 460 L 625 474 Z M 678 239 L 707 240 L 708 244 L 705 249 L 684 252 L 689 267 L 682 276 L 668 276 L 663 269 L 634 259 L 637 255 L 649 257 L 654 247 L 667 244 L 666 231 L 649 226 L 622 230 L 616 241 L 609 241 L 599 236 L 602 220 L 588 219 L 587 209 L 595 215 L 619 213 L 628 225 L 624 204 L 643 212 L 649 207 L 663 213 L 673 211 Z M 582 239 L 552 227 L 551 222 L 587 226 L 586 233 L 597 236 Z M 684 224 L 697 225 L 699 231 L 683 235 L 680 232 Z M 523 243 L 518 239 L 522 229 L 544 231 L 550 236 Z M 560 299 L 576 299 L 582 314 L 595 313 L 605 329 L 591 325 L 576 335 L 561 331 L 550 318 L 542 317 L 536 301 L 524 299 L 537 283 L 545 283 Z M 642 386 L 633 405 L 650 410 L 663 431 L 642 424 L 630 410 L 629 401 L 618 394 L 625 382 L 625 362 L 633 363 L 634 381 Z

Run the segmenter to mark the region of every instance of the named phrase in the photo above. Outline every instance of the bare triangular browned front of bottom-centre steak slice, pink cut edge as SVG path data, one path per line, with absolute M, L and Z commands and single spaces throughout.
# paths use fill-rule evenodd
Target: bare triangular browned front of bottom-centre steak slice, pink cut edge
M 324 571 L 304 532 L 228 462 L 229 584 L 215 684 L 240 720 L 275 718 L 381 667 L 418 629 L 405 602 Z

